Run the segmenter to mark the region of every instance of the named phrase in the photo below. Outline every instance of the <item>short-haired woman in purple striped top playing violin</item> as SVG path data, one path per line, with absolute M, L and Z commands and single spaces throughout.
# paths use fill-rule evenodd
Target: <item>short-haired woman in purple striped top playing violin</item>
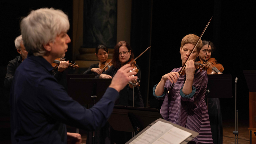
M 180 46 L 182 65 L 196 45 L 198 36 L 194 34 L 183 37 Z M 213 143 L 207 106 L 204 101 L 207 87 L 207 73 L 205 70 L 195 69 L 195 59 L 202 48 L 199 40 L 195 51 L 192 52 L 186 63 L 186 75 L 179 76 L 181 68 L 175 68 L 170 73 L 162 76 L 160 82 L 153 88 L 156 99 L 162 99 L 160 110 L 165 120 L 181 125 L 199 135 L 189 143 Z M 167 93 L 173 83 L 173 89 Z

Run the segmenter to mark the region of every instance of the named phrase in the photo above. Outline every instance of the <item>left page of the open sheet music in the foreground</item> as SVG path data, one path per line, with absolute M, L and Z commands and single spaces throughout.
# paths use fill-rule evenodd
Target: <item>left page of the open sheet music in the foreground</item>
M 143 132 L 139 137 L 133 140 L 130 144 L 151 144 L 173 127 L 174 126 L 172 124 L 158 121 L 150 128 L 148 128 L 147 131 Z

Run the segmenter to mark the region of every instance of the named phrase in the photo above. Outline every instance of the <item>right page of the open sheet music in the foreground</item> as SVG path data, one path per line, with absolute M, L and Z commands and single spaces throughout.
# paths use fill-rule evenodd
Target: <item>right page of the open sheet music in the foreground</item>
M 177 127 L 173 127 L 152 144 L 180 144 L 191 135 L 192 133 L 190 132 L 181 130 Z

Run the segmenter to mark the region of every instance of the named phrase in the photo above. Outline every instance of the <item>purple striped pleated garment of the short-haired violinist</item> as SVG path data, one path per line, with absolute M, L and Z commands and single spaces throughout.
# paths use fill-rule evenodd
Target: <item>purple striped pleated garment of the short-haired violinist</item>
M 179 72 L 180 69 L 175 68 L 172 72 Z M 199 132 L 199 135 L 192 140 L 197 144 L 213 143 L 208 110 L 204 101 L 208 82 L 207 72 L 204 70 L 195 72 L 193 86 L 196 88 L 196 93 L 189 99 L 180 96 L 180 89 L 185 83 L 185 78 L 185 75 L 180 76 L 172 91 L 158 98 L 164 100 L 160 113 L 169 122 Z M 171 84 L 169 80 L 166 81 L 164 87 L 167 91 Z

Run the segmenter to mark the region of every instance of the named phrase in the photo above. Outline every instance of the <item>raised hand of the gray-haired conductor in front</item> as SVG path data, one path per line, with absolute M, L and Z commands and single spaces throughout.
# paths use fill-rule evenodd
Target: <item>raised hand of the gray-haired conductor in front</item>
M 124 65 L 121 67 L 113 77 L 111 84 L 109 87 L 116 89 L 117 92 L 120 92 L 128 83 L 133 79 L 137 79 L 138 76 L 131 76 L 136 75 L 136 72 L 130 72 L 133 68 L 130 64 Z M 129 77 L 131 76 L 131 77 Z

